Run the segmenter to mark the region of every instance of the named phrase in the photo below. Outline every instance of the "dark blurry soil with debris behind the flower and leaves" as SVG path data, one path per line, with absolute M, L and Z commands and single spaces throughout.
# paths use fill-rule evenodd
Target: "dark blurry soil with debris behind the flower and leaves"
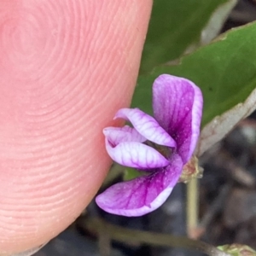
M 241 0 L 224 24 L 223 32 L 253 20 L 256 20 L 256 1 Z M 197 237 L 215 246 L 236 242 L 256 249 L 256 113 L 242 120 L 224 141 L 201 157 L 200 163 L 204 175 L 200 180 L 200 228 L 196 231 Z M 97 217 L 129 229 L 185 236 L 185 189 L 184 184 L 177 184 L 160 209 L 141 218 L 110 215 L 102 212 L 93 201 L 74 224 L 35 255 L 204 255 L 181 248 L 143 245 L 129 239 L 125 243 L 109 243 L 109 232 L 112 231 L 108 227 L 102 228 L 101 239 L 87 227 L 90 217 Z

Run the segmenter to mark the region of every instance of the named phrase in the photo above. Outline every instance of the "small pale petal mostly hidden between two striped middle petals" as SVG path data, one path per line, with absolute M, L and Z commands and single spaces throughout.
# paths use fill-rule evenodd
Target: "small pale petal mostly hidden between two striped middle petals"
M 103 129 L 103 133 L 108 138 L 109 143 L 112 143 L 114 146 L 125 142 L 144 143 L 147 140 L 128 125 L 123 127 L 106 127 Z

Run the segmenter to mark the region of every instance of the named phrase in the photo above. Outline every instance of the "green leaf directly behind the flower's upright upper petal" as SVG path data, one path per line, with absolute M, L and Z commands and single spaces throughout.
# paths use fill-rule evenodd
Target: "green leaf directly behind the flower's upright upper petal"
M 152 113 L 151 88 L 161 73 L 190 79 L 204 96 L 202 125 L 244 102 L 256 87 L 256 23 L 225 33 L 218 41 L 183 56 L 175 66 L 156 67 L 138 78 L 132 106 Z

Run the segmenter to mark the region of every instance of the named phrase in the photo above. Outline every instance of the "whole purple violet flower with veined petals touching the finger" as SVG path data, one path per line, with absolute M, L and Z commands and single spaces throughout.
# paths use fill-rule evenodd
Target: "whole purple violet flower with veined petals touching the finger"
M 171 194 L 200 133 L 201 90 L 188 79 L 162 74 L 154 80 L 154 118 L 138 108 L 122 108 L 115 119 L 133 128 L 103 130 L 108 154 L 123 166 L 148 175 L 116 183 L 96 197 L 106 212 L 141 216 L 160 207 Z

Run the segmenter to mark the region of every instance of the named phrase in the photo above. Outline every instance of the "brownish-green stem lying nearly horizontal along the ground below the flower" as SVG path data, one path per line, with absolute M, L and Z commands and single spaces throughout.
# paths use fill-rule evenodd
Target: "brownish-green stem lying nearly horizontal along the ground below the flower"
M 86 218 L 82 223 L 84 229 L 101 236 L 102 232 L 108 232 L 111 240 L 125 243 L 148 244 L 151 246 L 183 247 L 206 253 L 209 256 L 230 256 L 218 250 L 217 247 L 207 244 L 204 241 L 196 241 L 183 236 L 172 236 L 143 230 L 131 230 L 115 224 L 109 224 L 102 218 Z

